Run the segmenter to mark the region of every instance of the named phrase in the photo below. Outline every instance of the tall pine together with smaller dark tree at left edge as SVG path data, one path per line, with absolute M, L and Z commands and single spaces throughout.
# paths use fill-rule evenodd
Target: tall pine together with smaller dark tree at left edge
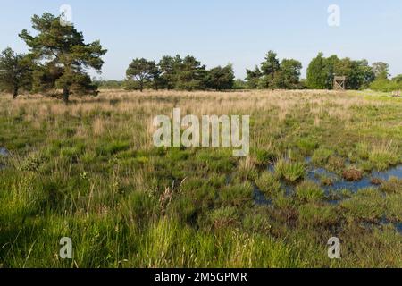
M 86 44 L 83 34 L 72 25 L 63 25 L 60 16 L 51 13 L 32 17 L 32 36 L 24 29 L 19 35 L 29 46 L 27 55 L 6 48 L 0 55 L 0 86 L 17 97 L 21 88 L 46 93 L 63 90 L 63 100 L 71 92 L 96 94 L 97 87 L 88 69 L 101 70 L 102 55 L 107 52 L 99 41 Z

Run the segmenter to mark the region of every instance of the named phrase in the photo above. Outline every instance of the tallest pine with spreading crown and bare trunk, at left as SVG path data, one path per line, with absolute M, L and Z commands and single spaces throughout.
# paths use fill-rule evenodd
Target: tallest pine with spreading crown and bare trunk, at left
M 101 70 L 104 61 L 99 41 L 86 44 L 82 32 L 73 25 L 63 25 L 60 16 L 44 13 L 32 17 L 32 28 L 38 34 L 31 36 L 22 30 L 20 37 L 29 46 L 29 53 L 38 64 L 34 85 L 41 88 L 63 88 L 63 100 L 69 101 L 71 89 L 77 93 L 95 93 L 87 70 Z

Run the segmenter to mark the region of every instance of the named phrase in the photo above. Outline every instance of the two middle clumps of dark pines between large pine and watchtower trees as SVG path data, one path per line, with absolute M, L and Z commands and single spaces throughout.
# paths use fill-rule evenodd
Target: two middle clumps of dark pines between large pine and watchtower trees
M 134 59 L 126 71 L 128 89 L 228 90 L 238 88 L 303 88 L 300 83 L 302 63 L 294 59 L 278 60 L 270 51 L 261 68 L 247 70 L 246 81 L 235 80 L 231 64 L 206 70 L 194 56 L 163 56 L 159 63 Z

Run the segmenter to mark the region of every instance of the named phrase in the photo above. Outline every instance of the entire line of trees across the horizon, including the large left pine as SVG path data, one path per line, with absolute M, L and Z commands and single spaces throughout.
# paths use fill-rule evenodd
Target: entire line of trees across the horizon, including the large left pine
M 29 53 L 17 54 L 10 47 L 0 55 L 0 89 L 18 97 L 21 90 L 62 97 L 71 93 L 96 95 L 98 88 L 230 90 L 230 89 L 331 89 L 335 76 L 346 76 L 348 89 L 372 88 L 381 91 L 402 89 L 402 75 L 389 79 L 388 63 L 324 57 L 319 53 L 301 79 L 302 63 L 282 59 L 269 51 L 255 69 L 246 71 L 245 80 L 235 80 L 231 64 L 207 69 L 195 56 L 165 55 L 156 63 L 145 58 L 132 60 L 125 80 L 92 80 L 88 70 L 101 71 L 106 54 L 99 41 L 85 43 L 82 32 L 63 25 L 61 16 L 44 13 L 31 19 L 36 35 L 26 29 L 19 37 Z M 55 91 L 61 90 L 58 93 Z

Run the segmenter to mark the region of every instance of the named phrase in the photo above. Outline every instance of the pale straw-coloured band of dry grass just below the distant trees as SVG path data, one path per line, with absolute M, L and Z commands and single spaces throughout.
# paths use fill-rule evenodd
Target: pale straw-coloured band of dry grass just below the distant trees
M 46 117 L 49 114 L 60 115 L 69 113 L 74 116 L 86 114 L 93 110 L 121 111 L 130 113 L 143 109 L 146 114 L 154 114 L 163 109 L 172 109 L 176 105 L 183 114 L 232 114 L 235 112 L 277 110 L 278 117 L 283 119 L 292 114 L 300 105 L 308 104 L 311 113 L 328 113 L 334 118 L 345 118 L 349 107 L 368 104 L 362 97 L 351 96 L 347 93 L 325 90 L 274 90 L 247 92 L 184 92 L 184 91 L 145 91 L 129 92 L 124 90 L 102 90 L 98 97 L 71 98 L 71 105 L 63 105 L 49 97 L 22 96 L 13 101 L 9 113 L 26 109 L 27 116 Z M 11 102 L 3 97 L 1 102 Z M 322 108 L 331 105 L 332 108 Z M 377 103 L 381 105 L 381 103 Z M 339 108 L 342 106 L 342 108 Z

